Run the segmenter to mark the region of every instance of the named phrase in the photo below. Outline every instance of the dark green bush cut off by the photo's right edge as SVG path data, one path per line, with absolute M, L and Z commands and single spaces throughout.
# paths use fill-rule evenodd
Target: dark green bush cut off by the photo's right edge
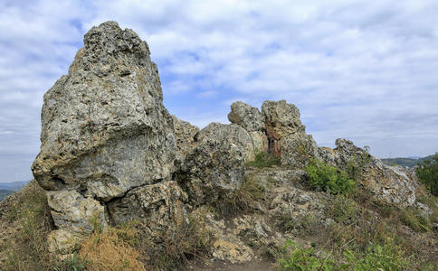
M 438 196 L 438 153 L 432 156 L 432 160 L 418 163 L 415 173 L 418 180 L 423 182 L 433 195 Z

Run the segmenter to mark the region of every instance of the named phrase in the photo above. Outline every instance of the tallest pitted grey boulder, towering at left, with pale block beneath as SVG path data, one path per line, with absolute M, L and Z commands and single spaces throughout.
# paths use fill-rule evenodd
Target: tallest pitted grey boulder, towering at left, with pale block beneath
M 107 22 L 85 34 L 69 73 L 44 95 L 32 166 L 57 228 L 90 231 L 92 215 L 105 225 L 105 202 L 170 180 L 176 137 L 162 101 L 157 65 L 136 33 Z

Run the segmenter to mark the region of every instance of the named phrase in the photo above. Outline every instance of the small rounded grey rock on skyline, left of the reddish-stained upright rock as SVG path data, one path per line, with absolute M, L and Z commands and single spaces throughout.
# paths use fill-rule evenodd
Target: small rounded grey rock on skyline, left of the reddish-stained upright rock
M 248 132 L 262 131 L 264 128 L 262 113 L 259 109 L 241 101 L 233 102 L 228 119 L 233 124 L 243 126 L 243 129 Z

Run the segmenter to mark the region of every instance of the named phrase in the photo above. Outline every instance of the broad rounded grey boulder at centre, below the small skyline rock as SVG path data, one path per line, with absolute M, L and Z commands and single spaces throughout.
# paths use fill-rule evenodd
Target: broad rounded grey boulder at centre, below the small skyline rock
M 176 179 L 195 203 L 232 197 L 243 183 L 252 138 L 241 126 L 211 123 L 195 135 L 195 141 Z

